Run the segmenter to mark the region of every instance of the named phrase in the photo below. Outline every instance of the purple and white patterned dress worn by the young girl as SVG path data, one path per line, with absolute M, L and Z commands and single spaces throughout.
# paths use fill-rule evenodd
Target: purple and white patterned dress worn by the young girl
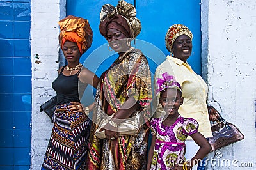
M 150 169 L 165 170 L 186 160 L 185 141 L 188 135 L 198 132 L 198 123 L 193 118 L 179 116 L 172 126 L 164 126 L 163 118 L 153 118 L 150 128 L 152 135 L 156 135 Z

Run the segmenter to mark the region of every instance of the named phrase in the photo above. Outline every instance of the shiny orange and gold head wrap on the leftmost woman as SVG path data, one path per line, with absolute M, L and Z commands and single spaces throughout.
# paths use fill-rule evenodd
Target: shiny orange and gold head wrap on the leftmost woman
M 91 47 L 93 31 L 88 20 L 68 15 L 58 24 L 61 30 L 59 35 L 61 49 L 66 41 L 77 43 L 81 55 Z

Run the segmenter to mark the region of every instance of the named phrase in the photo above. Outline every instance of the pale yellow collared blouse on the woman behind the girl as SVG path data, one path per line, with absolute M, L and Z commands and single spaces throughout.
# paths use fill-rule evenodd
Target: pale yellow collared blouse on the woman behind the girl
M 179 114 L 185 118 L 194 118 L 199 123 L 198 131 L 204 137 L 212 137 L 211 125 L 207 111 L 207 84 L 200 75 L 197 75 L 188 65 L 178 58 L 167 56 L 166 60 L 156 68 L 154 88 L 157 88 L 156 78 L 163 78 L 162 74 L 168 72 L 174 75 L 182 88 L 184 102 L 180 105 Z M 163 111 L 161 105 L 157 107 L 157 116 Z M 188 138 L 191 139 L 191 138 Z

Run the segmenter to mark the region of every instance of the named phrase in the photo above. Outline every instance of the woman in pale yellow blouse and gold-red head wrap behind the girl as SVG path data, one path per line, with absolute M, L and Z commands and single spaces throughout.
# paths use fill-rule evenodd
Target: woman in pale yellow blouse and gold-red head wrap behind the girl
M 192 51 L 193 35 L 188 27 L 175 24 L 171 26 L 165 37 L 166 48 L 172 53 L 172 56 L 167 56 L 166 60 L 161 63 L 156 69 L 155 83 L 164 72 L 169 75 L 174 75 L 182 86 L 182 96 L 184 102 L 180 105 L 179 113 L 185 118 L 194 118 L 199 123 L 198 131 L 204 137 L 212 137 L 211 125 L 207 111 L 207 84 L 200 75 L 197 75 L 187 63 L 187 59 Z M 164 114 L 161 107 L 157 107 L 157 116 Z M 188 138 L 186 142 L 186 159 L 191 159 L 198 145 Z M 195 167 L 196 168 L 196 167 Z

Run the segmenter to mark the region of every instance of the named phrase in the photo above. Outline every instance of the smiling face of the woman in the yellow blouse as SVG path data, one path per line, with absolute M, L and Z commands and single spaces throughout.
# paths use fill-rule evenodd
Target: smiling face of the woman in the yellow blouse
M 172 52 L 175 58 L 179 58 L 186 63 L 187 59 L 191 55 L 191 51 L 192 41 L 188 35 L 180 35 L 173 42 Z

